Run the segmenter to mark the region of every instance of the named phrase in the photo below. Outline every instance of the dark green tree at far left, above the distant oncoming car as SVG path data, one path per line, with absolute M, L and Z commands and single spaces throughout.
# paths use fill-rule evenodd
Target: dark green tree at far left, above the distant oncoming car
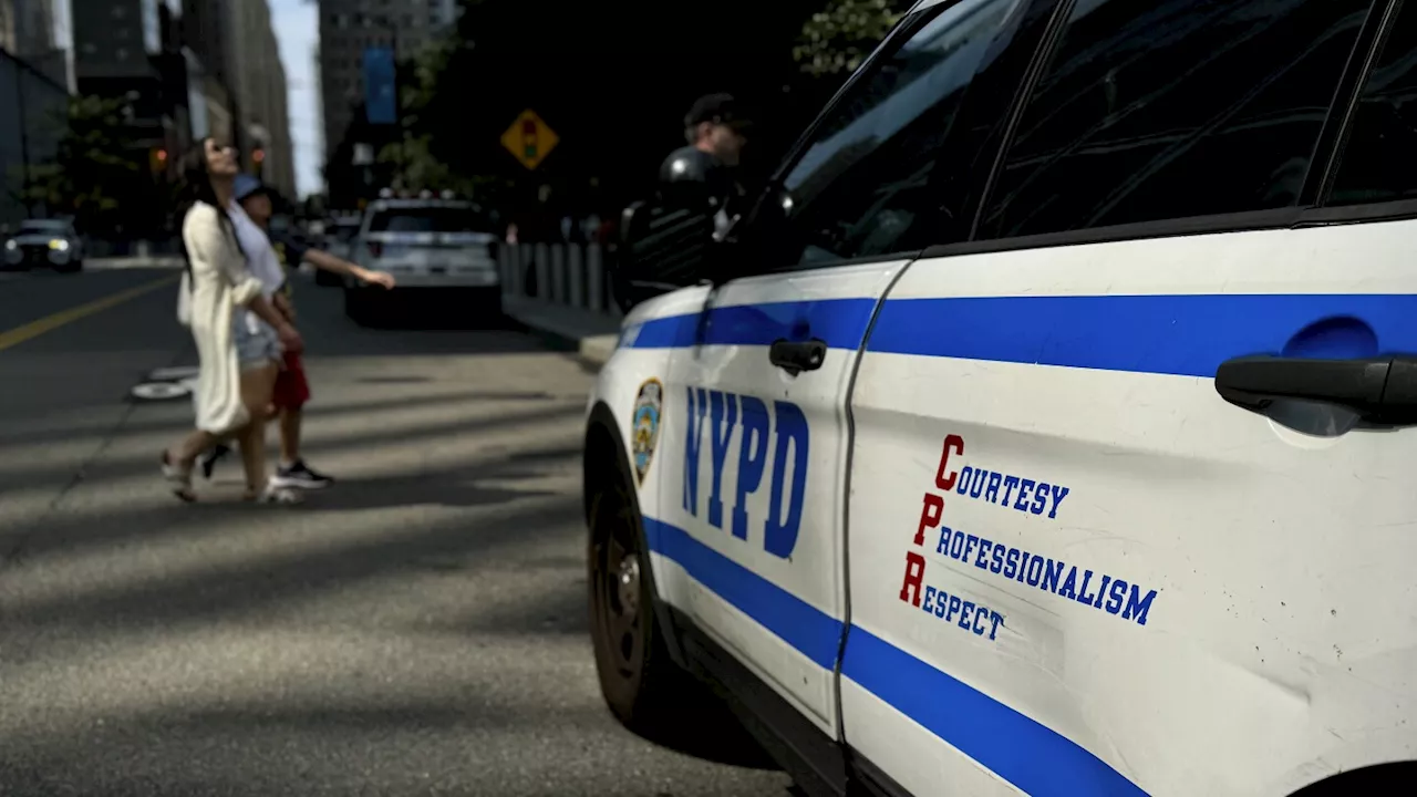
M 125 106 L 123 99 L 71 98 L 58 155 L 30 169 L 26 199 L 44 203 L 51 214 L 74 216 L 82 230 L 106 228 L 140 172 L 122 139 Z

